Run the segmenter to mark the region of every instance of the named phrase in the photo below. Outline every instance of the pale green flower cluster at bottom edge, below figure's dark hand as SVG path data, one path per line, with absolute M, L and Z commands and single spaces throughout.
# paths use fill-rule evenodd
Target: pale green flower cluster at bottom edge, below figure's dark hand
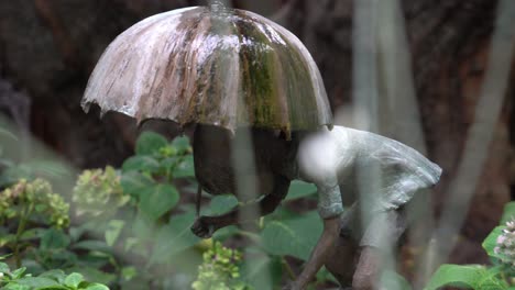
M 204 264 L 198 267 L 198 277 L 191 287 L 195 290 L 244 290 L 250 289 L 240 278 L 242 254 L 223 247 L 221 243 L 204 253 Z

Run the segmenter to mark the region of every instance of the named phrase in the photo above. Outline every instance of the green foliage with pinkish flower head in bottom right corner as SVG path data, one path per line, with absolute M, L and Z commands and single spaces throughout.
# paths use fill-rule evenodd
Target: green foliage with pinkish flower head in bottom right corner
M 463 289 L 515 289 L 515 202 L 506 204 L 501 225 L 483 242 L 493 266 L 442 265 L 426 290 L 452 286 Z

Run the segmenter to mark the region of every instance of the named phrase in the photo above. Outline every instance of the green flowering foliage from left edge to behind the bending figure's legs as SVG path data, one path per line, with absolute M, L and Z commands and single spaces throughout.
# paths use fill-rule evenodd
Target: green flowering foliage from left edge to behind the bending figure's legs
M 53 192 L 46 179 L 30 174 L 33 171 L 29 167 L 25 175 L 32 181 L 18 179 L 0 197 L 0 219 L 8 222 L 0 227 L 7 233 L 0 243 L 12 249 L 18 268 L 26 267 L 34 275 L 15 278 L 10 287 L 19 288 L 9 289 L 39 281 L 46 282 L 37 287 L 46 287 L 48 279 L 52 289 L 97 287 L 79 282 L 78 288 L 69 288 L 64 272 L 118 289 L 270 289 L 286 276 L 295 278 L 292 261 L 299 265 L 308 258 L 322 230 L 315 209 L 288 210 L 288 202 L 314 199 L 316 193 L 313 185 L 294 181 L 286 205 L 273 214 L 250 227 L 222 228 L 213 239 L 201 242 L 189 230 L 196 219 L 194 207 L 184 202 L 196 189 L 186 137 L 168 142 L 155 133 L 143 133 L 135 155 L 120 169 L 108 166 L 78 175 L 69 204 Z M 205 211 L 216 215 L 238 204 L 233 196 L 217 196 Z M 20 211 L 22 208 L 26 209 Z M 70 226 L 68 208 L 75 217 Z M 19 224 L 23 224 L 21 230 Z M 223 241 L 244 241 L 240 243 L 245 252 L 226 248 Z M 9 275 L 4 277 L 14 279 Z M 402 280 L 391 277 L 393 282 Z M 333 280 L 327 270 L 317 278 L 317 283 Z

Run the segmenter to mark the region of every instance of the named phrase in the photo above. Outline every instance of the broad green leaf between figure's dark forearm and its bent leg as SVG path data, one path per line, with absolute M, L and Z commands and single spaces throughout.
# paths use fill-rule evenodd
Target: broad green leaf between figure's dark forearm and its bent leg
M 278 256 L 289 255 L 306 260 L 321 232 L 321 221 L 314 211 L 298 219 L 269 222 L 261 237 L 267 253 Z

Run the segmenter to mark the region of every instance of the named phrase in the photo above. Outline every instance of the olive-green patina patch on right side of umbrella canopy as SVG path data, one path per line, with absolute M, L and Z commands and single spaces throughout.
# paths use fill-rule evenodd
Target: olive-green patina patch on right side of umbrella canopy
M 281 35 L 281 43 L 271 41 L 271 35 L 264 33 L 266 27 L 258 27 L 260 23 L 242 18 L 238 23 L 240 42 L 245 43 L 240 49 L 243 98 L 249 112 L 253 116 L 252 124 L 276 129 L 308 129 L 313 122 L 318 123 L 317 103 L 313 96 L 309 68 L 298 51 L 292 49 L 292 44 Z M 286 94 L 286 96 L 282 96 Z M 306 108 L 313 109 L 306 114 Z M 289 111 L 289 120 L 284 120 L 285 110 Z

